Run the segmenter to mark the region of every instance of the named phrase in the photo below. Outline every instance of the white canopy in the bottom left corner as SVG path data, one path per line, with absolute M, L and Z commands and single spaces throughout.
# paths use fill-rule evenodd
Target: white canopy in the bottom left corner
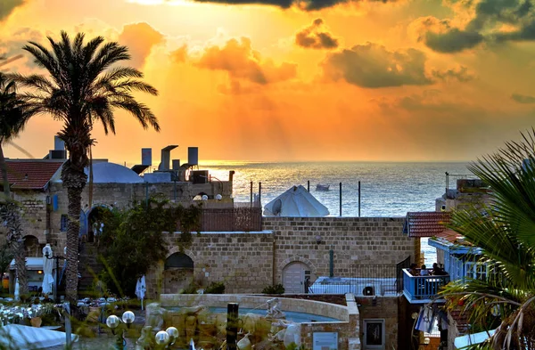
M 73 335 L 72 341 L 78 336 Z M 8 324 L 0 328 L 0 346 L 12 349 L 40 349 L 65 344 L 65 332 L 46 330 L 43 328 Z

